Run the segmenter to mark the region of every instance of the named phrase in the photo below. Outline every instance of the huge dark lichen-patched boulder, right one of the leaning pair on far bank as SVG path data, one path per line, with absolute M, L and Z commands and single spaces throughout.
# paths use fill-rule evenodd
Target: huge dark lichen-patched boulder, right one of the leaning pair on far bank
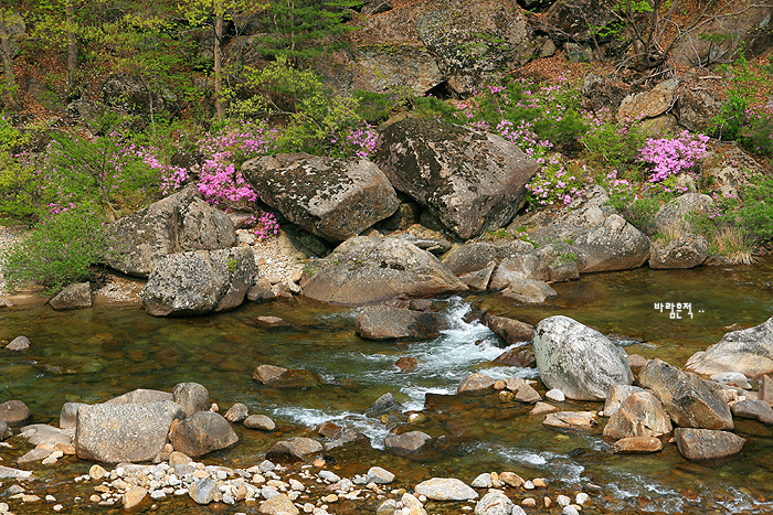
M 499 136 L 416 118 L 384 129 L 373 161 L 396 190 L 464 239 L 512 219 L 539 169 Z

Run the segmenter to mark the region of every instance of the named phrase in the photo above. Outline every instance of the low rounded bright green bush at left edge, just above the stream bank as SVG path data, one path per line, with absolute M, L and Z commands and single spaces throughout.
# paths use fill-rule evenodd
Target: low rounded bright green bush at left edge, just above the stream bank
M 103 219 L 86 205 L 41 222 L 0 260 L 12 289 L 40 282 L 53 294 L 88 279 L 89 266 L 105 257 L 107 246 Z

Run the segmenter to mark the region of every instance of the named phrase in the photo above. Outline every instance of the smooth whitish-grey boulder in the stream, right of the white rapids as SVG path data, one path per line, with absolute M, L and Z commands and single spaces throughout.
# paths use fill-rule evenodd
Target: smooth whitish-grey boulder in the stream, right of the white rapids
M 623 348 L 568 316 L 542 320 L 532 345 L 542 383 L 570 399 L 604 400 L 610 386 L 634 380 Z

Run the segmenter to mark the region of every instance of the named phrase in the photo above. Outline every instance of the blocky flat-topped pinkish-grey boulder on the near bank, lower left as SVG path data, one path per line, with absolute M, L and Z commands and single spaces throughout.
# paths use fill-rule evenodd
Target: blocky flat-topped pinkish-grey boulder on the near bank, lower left
M 173 420 L 186 414 L 171 401 L 82 405 L 75 426 L 75 452 L 107 463 L 151 461 L 169 441 Z

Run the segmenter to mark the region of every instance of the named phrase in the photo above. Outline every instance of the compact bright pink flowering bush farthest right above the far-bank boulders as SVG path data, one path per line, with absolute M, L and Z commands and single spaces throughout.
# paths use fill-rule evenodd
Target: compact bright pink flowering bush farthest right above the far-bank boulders
M 686 130 L 676 138 L 649 138 L 639 149 L 640 160 L 653 167 L 649 182 L 663 182 L 671 175 L 690 172 L 707 154 L 708 136 L 695 137 Z

